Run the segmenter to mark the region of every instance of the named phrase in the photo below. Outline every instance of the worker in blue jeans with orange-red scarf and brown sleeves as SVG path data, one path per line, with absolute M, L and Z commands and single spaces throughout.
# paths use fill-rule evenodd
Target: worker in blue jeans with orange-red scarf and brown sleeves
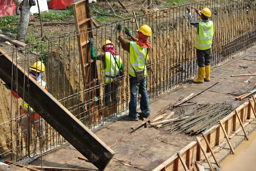
M 131 31 L 125 28 L 125 34 L 130 36 L 133 41 L 125 40 L 122 34 L 122 25 L 118 24 L 119 42 L 124 50 L 130 53 L 129 76 L 130 76 L 130 95 L 129 114 L 124 116 L 124 119 L 131 121 L 138 121 L 137 116 L 137 91 L 141 95 L 140 109 L 142 112 L 138 113 L 143 118 L 150 116 L 150 109 L 148 106 L 148 94 L 146 89 L 146 62 L 148 61 L 148 49 L 151 48 L 151 43 L 148 37 L 152 35 L 151 28 L 144 24 L 137 31 L 139 31 L 138 39 L 131 35 Z

